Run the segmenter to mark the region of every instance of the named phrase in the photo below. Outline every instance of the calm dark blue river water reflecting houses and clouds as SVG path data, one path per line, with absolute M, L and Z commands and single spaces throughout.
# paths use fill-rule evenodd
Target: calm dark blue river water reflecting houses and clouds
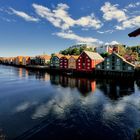
M 68 78 L 0 65 L 0 135 L 6 139 L 132 140 L 140 81 Z

